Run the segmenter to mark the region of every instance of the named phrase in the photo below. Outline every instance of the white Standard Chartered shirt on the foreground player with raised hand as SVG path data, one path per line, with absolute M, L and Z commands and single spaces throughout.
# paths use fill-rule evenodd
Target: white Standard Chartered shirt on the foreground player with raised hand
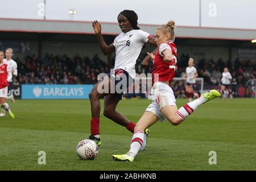
M 113 45 L 115 46 L 115 66 L 114 69 L 123 69 L 135 78 L 135 64 L 141 53 L 141 49 L 150 39 L 150 34 L 142 30 L 131 30 L 119 34 Z

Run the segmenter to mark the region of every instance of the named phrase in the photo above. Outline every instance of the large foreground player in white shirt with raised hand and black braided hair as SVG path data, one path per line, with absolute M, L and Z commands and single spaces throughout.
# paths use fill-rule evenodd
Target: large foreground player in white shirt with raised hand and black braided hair
M 125 118 L 121 113 L 115 110 L 118 102 L 122 99 L 122 93 L 111 93 L 112 85 L 117 85 L 118 81 L 115 77 L 126 76 L 127 88 L 130 84 L 128 80 L 135 78 L 135 64 L 139 53 L 145 43 L 155 44 L 154 36 L 140 30 L 137 26 L 138 16 L 132 10 L 123 10 L 118 17 L 119 27 L 122 33 L 119 34 L 112 44 L 106 45 L 102 34 L 101 24 L 96 21 L 92 23 L 94 32 L 97 36 L 98 43 L 104 55 L 109 55 L 115 52 L 114 71 L 105 76 L 98 82 L 89 94 L 92 119 L 90 121 L 90 136 L 89 139 L 94 140 L 98 146 L 101 145 L 100 140 L 100 98 L 104 98 L 104 115 L 112 119 L 112 121 L 126 127 L 127 130 L 134 132 L 135 123 Z M 130 78 L 130 79 L 129 79 Z M 102 89 L 101 85 L 109 85 L 107 92 Z M 104 87 L 105 88 L 105 87 Z M 123 88 L 123 89 L 126 89 Z

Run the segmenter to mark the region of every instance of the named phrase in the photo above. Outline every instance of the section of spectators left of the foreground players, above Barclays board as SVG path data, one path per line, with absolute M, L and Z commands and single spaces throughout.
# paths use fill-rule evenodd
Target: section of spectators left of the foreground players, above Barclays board
M 100 73 L 108 73 L 108 65 L 98 55 L 92 59 L 76 55 L 48 55 L 42 60 L 36 56 L 15 59 L 18 64 L 18 76 L 14 85 L 20 84 L 93 84 Z

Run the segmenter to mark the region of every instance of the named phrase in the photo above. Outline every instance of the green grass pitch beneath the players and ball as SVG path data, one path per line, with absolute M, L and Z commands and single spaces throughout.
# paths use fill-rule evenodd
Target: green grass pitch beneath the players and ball
M 177 100 L 178 107 L 185 103 Z M 77 143 L 90 131 L 89 100 L 19 100 L 9 103 L 16 119 L 0 117 L 0 170 L 255 170 L 255 103 L 254 98 L 216 99 L 179 126 L 158 122 L 150 127 L 146 151 L 123 163 L 111 155 L 125 154 L 132 134 L 103 115 L 97 158 L 78 158 Z M 136 122 L 148 104 L 123 100 L 117 110 Z M 46 152 L 46 165 L 38 164 L 39 151 Z M 208 163 L 209 151 L 217 152 L 217 165 Z

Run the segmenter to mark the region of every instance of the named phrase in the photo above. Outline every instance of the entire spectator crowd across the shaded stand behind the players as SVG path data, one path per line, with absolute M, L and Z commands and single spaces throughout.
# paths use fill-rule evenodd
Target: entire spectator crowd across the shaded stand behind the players
M 145 54 L 141 53 L 137 60 L 137 73 L 151 73 L 151 66 L 144 69 L 141 61 Z M 176 77 L 185 74 L 189 55 L 183 54 L 177 59 L 178 69 Z M 26 56 L 20 60 L 14 58 L 18 64 L 18 76 L 14 78 L 14 85 L 20 84 L 95 84 L 100 73 L 108 73 L 114 67 L 114 60 L 110 67 L 102 61 L 98 55 L 92 59 L 79 55 L 73 58 L 67 55 L 44 55 L 43 59 L 36 56 Z M 195 67 L 199 77 L 204 78 L 205 85 L 220 85 L 224 67 L 229 68 L 233 82 L 245 85 L 246 81 L 256 76 L 256 64 L 250 60 L 223 61 L 219 60 L 195 60 Z

